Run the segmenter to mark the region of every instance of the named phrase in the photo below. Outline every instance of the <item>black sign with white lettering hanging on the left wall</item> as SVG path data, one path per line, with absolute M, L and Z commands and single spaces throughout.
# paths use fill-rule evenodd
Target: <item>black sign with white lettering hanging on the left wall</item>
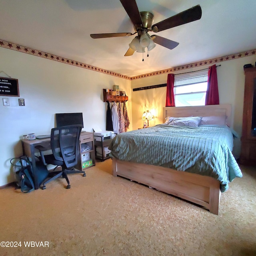
M 0 96 L 20 97 L 18 79 L 0 77 Z

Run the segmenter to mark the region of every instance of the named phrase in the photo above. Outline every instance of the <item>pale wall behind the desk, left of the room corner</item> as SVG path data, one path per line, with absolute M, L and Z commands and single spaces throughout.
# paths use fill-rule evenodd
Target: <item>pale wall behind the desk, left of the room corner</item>
M 18 79 L 20 90 L 20 97 L 0 96 L 0 186 L 14 180 L 10 159 L 22 155 L 22 135 L 50 134 L 55 113 L 83 112 L 83 130 L 105 130 L 103 88 L 118 84 L 126 91 L 132 129 L 130 80 L 6 48 L 0 48 L 0 56 L 0 71 Z M 3 72 L 0 76 L 6 77 Z M 3 106 L 2 98 L 8 98 L 10 106 Z M 18 105 L 18 98 L 25 99 L 25 106 Z

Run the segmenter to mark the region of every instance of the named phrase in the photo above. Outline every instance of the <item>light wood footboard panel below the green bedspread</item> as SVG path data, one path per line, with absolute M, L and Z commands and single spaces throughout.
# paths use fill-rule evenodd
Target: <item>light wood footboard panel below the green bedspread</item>
M 219 213 L 220 182 L 208 176 L 112 158 L 113 175 L 122 176 Z

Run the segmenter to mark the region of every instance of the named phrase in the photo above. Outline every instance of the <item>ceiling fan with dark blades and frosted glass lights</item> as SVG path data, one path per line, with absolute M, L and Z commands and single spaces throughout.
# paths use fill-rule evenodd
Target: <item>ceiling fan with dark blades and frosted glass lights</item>
M 170 18 L 162 20 L 156 24 L 153 24 L 154 15 L 151 12 L 139 12 L 136 0 L 120 0 L 124 9 L 126 10 L 132 24 L 134 25 L 134 33 L 105 33 L 105 34 L 90 34 L 94 39 L 96 38 L 109 38 L 119 36 L 137 36 L 129 44 L 129 49 L 124 56 L 131 56 L 134 52 L 145 52 L 145 48 L 148 51 L 152 50 L 156 44 L 160 44 L 170 50 L 178 46 L 178 42 L 169 40 L 167 38 L 152 35 L 148 32 L 160 32 L 169 28 L 174 28 L 182 24 L 186 24 L 195 20 L 200 20 L 202 16 L 202 9 L 200 5 L 196 5 L 188 10 L 180 12 Z M 142 59 L 143 61 L 144 59 Z

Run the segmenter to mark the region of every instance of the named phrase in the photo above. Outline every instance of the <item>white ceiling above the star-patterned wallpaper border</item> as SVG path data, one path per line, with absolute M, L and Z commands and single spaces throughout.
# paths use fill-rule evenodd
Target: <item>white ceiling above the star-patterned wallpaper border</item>
M 0 40 L 136 76 L 256 48 L 256 0 L 136 0 L 154 22 L 200 4 L 202 18 L 157 33 L 179 42 L 156 45 L 149 57 L 125 57 L 134 36 L 92 39 L 90 34 L 134 32 L 119 0 L 0 0 Z M 150 34 L 150 33 L 149 33 Z M 152 34 L 152 33 L 151 33 Z

